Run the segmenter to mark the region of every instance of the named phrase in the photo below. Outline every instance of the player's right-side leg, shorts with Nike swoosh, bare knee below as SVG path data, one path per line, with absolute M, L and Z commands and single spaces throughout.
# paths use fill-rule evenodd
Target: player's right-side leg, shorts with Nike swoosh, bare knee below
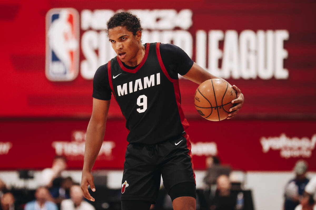
M 183 134 L 177 139 L 161 144 L 160 147 L 160 151 L 164 151 L 165 162 L 161 168 L 161 175 L 173 208 L 195 209 L 196 184 L 189 136 Z

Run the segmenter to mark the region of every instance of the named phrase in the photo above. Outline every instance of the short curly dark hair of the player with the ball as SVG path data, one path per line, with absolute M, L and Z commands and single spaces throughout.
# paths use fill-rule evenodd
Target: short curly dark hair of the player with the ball
M 125 26 L 128 31 L 136 35 L 137 31 L 142 31 L 139 18 L 130 12 L 120 12 L 114 14 L 106 23 L 107 30 L 117 27 Z

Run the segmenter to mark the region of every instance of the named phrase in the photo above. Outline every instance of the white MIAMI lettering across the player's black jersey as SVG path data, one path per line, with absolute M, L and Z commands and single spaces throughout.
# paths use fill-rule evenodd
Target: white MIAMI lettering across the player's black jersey
M 133 83 L 134 83 L 134 88 L 133 88 Z M 137 79 L 134 82 L 128 82 L 128 86 L 127 83 L 124 83 L 123 85 L 118 85 L 117 86 L 117 91 L 118 91 L 118 95 L 126 95 L 128 93 L 133 93 L 136 92 L 137 90 L 142 90 L 145 88 L 149 88 L 155 85 L 159 85 L 160 84 L 160 73 L 156 74 L 156 79 L 155 79 L 155 74 L 150 75 L 150 77 L 144 77 L 144 79 Z M 128 90 L 128 91 L 127 91 Z

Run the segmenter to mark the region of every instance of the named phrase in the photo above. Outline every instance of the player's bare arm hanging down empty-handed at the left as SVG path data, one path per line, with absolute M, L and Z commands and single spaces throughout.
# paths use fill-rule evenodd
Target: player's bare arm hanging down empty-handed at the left
M 94 201 L 94 198 L 88 192 L 88 185 L 90 185 L 92 191 L 95 191 L 91 170 L 99 154 L 104 139 L 109 105 L 110 100 L 93 99 L 92 115 L 87 128 L 81 190 L 83 196 L 90 201 Z

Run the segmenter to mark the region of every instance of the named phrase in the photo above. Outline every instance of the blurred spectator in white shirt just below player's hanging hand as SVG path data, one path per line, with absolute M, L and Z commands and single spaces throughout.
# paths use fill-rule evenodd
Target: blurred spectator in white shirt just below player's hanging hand
M 95 208 L 83 200 L 82 190 L 79 185 L 73 185 L 70 188 L 71 199 L 61 202 L 60 210 L 95 210 Z

